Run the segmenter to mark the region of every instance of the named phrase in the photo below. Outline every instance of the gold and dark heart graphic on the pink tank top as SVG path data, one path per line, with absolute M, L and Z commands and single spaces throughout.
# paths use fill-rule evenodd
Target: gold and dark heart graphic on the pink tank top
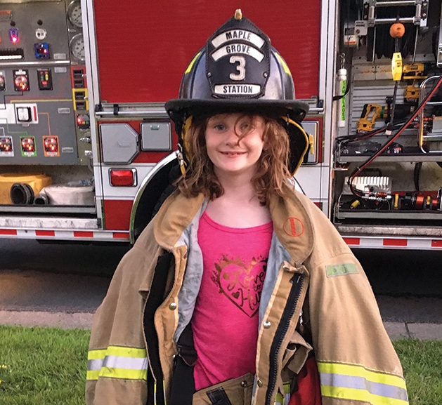
M 267 259 L 252 259 L 250 263 L 223 257 L 215 264 L 219 290 L 248 317 L 259 309 L 262 286 L 266 277 Z

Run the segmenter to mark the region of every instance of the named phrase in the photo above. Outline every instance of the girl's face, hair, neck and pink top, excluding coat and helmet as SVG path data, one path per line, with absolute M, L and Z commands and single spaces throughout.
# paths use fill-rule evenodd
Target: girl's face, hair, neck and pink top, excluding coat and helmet
M 216 114 L 189 134 L 195 169 L 179 187 L 187 197 L 209 197 L 197 232 L 203 273 L 192 319 L 196 390 L 255 371 L 257 312 L 273 234 L 267 193 L 280 190 L 288 174 L 287 135 L 283 128 L 273 133 L 276 125 L 260 116 Z M 281 173 L 271 166 L 277 159 Z M 273 179 L 276 184 L 268 184 Z

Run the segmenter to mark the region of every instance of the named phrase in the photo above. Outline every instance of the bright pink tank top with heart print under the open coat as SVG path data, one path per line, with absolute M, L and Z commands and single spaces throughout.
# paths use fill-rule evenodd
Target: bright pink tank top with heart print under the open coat
M 198 229 L 204 271 L 192 328 L 195 388 L 255 373 L 258 312 L 273 224 L 225 227 L 203 213 Z

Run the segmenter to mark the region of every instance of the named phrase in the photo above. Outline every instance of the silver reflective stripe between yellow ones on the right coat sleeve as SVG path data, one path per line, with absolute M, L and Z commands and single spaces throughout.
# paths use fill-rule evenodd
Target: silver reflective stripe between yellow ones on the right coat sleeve
M 407 390 L 382 383 L 374 383 L 363 377 L 346 376 L 344 374 L 320 373 L 321 385 L 330 385 L 332 387 L 353 388 L 356 390 L 365 390 L 381 397 L 408 400 Z

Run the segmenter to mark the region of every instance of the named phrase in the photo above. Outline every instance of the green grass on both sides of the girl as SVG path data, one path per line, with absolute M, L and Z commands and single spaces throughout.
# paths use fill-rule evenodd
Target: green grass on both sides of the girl
M 84 405 L 90 331 L 0 326 L 1 405 Z M 410 405 L 442 403 L 442 341 L 395 340 Z M 4 367 L 6 366 L 6 367 Z

